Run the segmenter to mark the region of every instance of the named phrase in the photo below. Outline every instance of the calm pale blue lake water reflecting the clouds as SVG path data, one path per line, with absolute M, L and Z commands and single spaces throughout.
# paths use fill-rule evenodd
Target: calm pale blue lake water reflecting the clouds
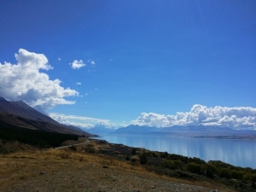
M 216 138 L 168 136 L 111 136 L 99 137 L 108 143 L 198 157 L 201 160 L 221 160 L 233 166 L 256 169 L 256 141 Z

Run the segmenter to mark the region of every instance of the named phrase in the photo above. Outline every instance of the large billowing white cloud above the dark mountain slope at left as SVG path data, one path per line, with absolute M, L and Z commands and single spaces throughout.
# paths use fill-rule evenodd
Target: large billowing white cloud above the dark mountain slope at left
M 0 96 L 10 101 L 23 100 L 34 108 L 45 111 L 59 104 L 74 104 L 64 99 L 78 96 L 76 90 L 61 87 L 61 80 L 50 80 L 41 70 L 52 69 L 43 54 L 19 49 L 17 64 L 0 63 Z

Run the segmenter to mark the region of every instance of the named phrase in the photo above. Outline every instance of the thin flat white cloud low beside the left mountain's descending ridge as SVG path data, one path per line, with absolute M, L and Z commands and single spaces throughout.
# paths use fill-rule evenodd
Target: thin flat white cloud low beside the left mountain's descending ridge
M 83 128 L 91 128 L 94 125 L 110 125 L 108 119 L 96 119 L 77 115 L 66 115 L 61 113 L 49 113 L 49 117 L 55 119 L 61 124 L 74 125 Z

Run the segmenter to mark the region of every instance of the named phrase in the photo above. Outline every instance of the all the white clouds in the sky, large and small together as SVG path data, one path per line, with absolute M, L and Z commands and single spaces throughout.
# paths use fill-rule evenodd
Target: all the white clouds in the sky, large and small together
M 49 75 L 44 73 L 53 69 L 48 64 L 48 59 L 44 54 L 29 52 L 26 49 L 19 49 L 15 54 L 17 63 L 0 63 L 0 96 L 11 100 L 22 100 L 45 112 L 59 104 L 74 104 L 74 101 L 65 99 L 67 96 L 79 96 L 79 92 L 61 86 L 61 80 L 50 80 Z M 88 60 L 89 65 L 95 66 L 95 61 Z M 70 63 L 73 69 L 85 67 L 83 61 L 73 61 Z M 77 82 L 76 85 L 81 85 Z M 95 89 L 97 90 L 97 89 Z M 86 96 L 88 94 L 85 94 Z M 51 117 L 61 123 L 79 125 L 82 127 L 92 127 L 97 124 L 109 127 L 116 126 L 108 119 L 94 119 L 75 115 L 65 115 L 52 113 Z M 148 125 L 155 127 L 170 127 L 173 125 L 217 125 L 233 129 L 254 129 L 256 130 L 256 108 L 236 107 L 226 108 L 216 106 L 207 108 L 200 104 L 195 104 L 189 112 L 177 112 L 174 115 L 158 113 L 141 113 L 141 115 L 131 120 L 131 125 Z M 124 125 L 125 126 L 125 125 Z

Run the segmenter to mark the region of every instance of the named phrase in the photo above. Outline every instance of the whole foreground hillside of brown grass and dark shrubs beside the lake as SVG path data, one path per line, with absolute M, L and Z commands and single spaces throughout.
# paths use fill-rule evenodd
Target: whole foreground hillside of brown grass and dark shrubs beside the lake
M 206 162 L 84 137 L 61 145 L 65 143 L 72 146 L 41 150 L 26 146 L 26 151 L 0 155 L 0 166 L 6 167 L 0 171 L 1 189 L 23 191 L 32 186 L 40 191 L 253 192 L 256 189 L 256 170 L 219 160 Z M 0 145 L 10 147 L 12 143 L 0 140 Z

